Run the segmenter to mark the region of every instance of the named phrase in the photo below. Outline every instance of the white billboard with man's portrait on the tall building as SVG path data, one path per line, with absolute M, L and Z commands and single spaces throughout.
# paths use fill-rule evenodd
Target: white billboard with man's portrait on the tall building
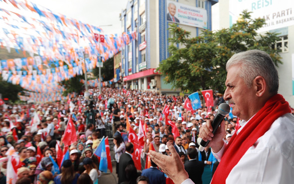
M 206 9 L 166 0 L 166 20 L 207 29 Z

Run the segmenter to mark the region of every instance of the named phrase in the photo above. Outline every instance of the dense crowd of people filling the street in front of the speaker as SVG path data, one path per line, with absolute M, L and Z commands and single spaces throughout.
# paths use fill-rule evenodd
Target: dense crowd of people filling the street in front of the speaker
M 207 147 L 203 153 L 198 153 L 197 136 L 199 128 L 205 121 L 214 118 L 220 101 L 218 98 L 215 100 L 215 107 L 210 110 L 203 107 L 191 112 L 183 108 L 184 96 L 112 88 L 103 88 L 101 94 L 96 88 L 90 89 L 89 92 L 91 95 L 88 100 L 83 95 L 78 95 L 65 102 L 0 106 L 0 183 L 5 181 L 7 155 L 11 149 L 18 154 L 22 163 L 17 170 L 16 183 L 75 184 L 82 179 L 86 180 L 85 175 L 89 175 L 94 184 L 98 183 L 101 175 L 99 159 L 93 152 L 101 138 L 107 134 L 113 137 L 114 158 L 112 159 L 117 163 L 116 173 L 119 184 L 136 183 L 136 179 L 140 176 L 147 177 L 152 184 L 163 183 L 163 180 L 165 183 L 166 177 L 156 169 L 153 162 L 149 169 L 145 168 L 149 145 L 152 144 L 156 152 L 170 155 L 166 142 L 174 145 L 187 171 L 194 167 L 194 165 L 190 166 L 191 162 L 197 161 L 199 165 L 197 177 L 191 174 L 195 182 L 202 181 L 201 177 L 206 166 L 209 167 L 207 169 L 209 172 L 204 178 L 207 178 L 207 181 L 211 179 L 214 162 L 210 158 L 212 157 L 210 149 Z M 170 109 L 169 114 L 166 114 L 167 117 L 162 112 L 165 106 Z M 40 119 L 40 123 L 37 125 L 37 131 L 32 132 L 35 115 Z M 60 145 L 61 149 L 65 149 L 62 139 L 68 118 L 71 118 L 75 125 L 78 140 L 68 147 L 69 159 L 59 163 L 56 159 L 56 144 Z M 139 134 L 139 124 L 143 123 L 145 126 L 146 137 L 140 158 L 141 170 L 135 168 L 132 158 L 129 157 L 129 162 L 126 159 L 134 152 L 134 145 L 128 143 L 122 136 L 124 132 L 129 133 L 126 129 L 127 118 L 137 134 Z M 171 125 L 165 123 L 166 118 L 176 126 L 179 132 L 177 137 L 174 136 Z M 228 134 L 224 140 L 229 140 L 235 131 L 237 118 L 231 119 L 227 116 L 226 120 Z M 61 166 L 61 174 L 54 173 L 51 159 Z M 130 164 L 132 166 L 129 166 Z M 144 177 L 141 177 L 141 180 L 143 179 Z

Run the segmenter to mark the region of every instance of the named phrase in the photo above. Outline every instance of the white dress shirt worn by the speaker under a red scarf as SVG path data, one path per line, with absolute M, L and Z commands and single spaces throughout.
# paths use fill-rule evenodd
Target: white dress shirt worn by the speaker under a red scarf
M 227 143 L 224 143 L 218 153 L 212 152 L 219 161 L 226 146 Z M 294 116 L 287 113 L 275 120 L 270 129 L 248 149 L 230 172 L 226 184 L 293 184 L 293 182 Z M 182 184 L 193 184 L 193 182 L 187 179 Z

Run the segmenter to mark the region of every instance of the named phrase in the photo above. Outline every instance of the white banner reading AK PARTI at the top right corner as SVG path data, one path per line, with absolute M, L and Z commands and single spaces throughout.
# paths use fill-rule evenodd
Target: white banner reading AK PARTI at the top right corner
M 258 32 L 294 25 L 294 0 L 230 0 L 230 26 L 245 9 L 252 12 L 252 18 L 266 20 Z

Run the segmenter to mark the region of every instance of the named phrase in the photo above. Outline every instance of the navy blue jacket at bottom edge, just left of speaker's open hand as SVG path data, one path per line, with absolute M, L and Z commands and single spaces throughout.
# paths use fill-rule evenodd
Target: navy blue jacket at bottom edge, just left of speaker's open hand
M 157 168 L 149 168 L 142 171 L 142 175 L 149 179 L 150 184 L 165 184 L 164 173 Z

